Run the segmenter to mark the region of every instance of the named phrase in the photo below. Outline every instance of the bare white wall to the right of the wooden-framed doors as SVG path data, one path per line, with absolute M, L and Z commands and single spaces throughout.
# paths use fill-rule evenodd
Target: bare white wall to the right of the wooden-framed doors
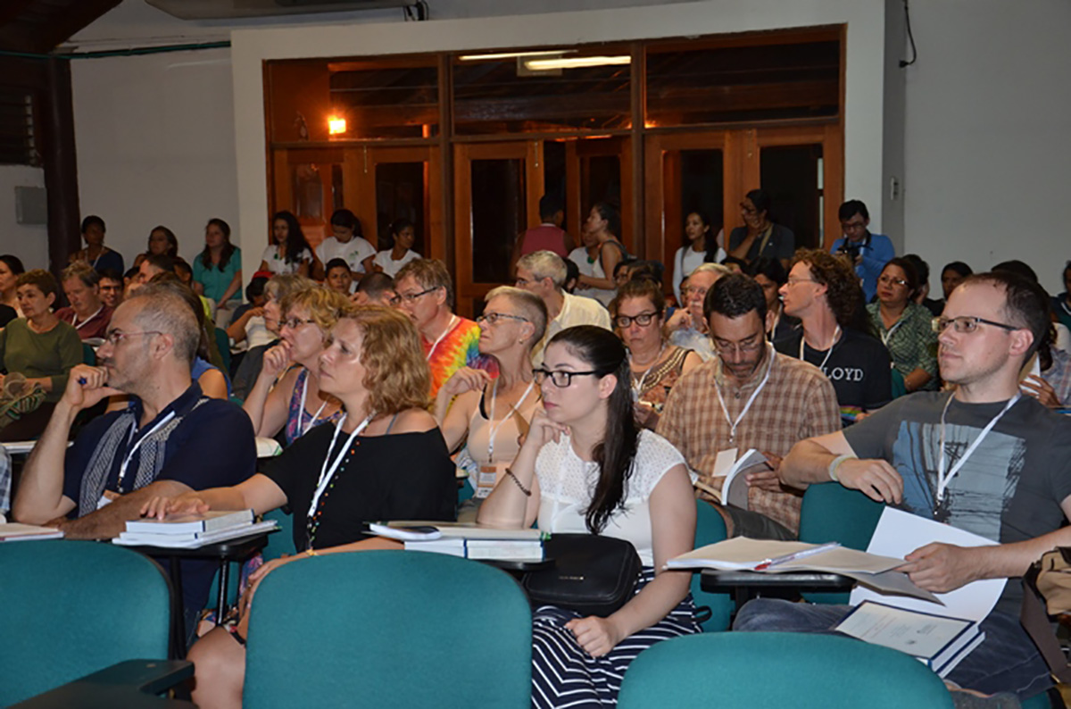
M 939 277 L 1020 258 L 1062 291 L 1071 258 L 1071 4 L 911 3 L 907 70 L 906 248 Z M 931 276 L 931 287 L 937 286 Z

